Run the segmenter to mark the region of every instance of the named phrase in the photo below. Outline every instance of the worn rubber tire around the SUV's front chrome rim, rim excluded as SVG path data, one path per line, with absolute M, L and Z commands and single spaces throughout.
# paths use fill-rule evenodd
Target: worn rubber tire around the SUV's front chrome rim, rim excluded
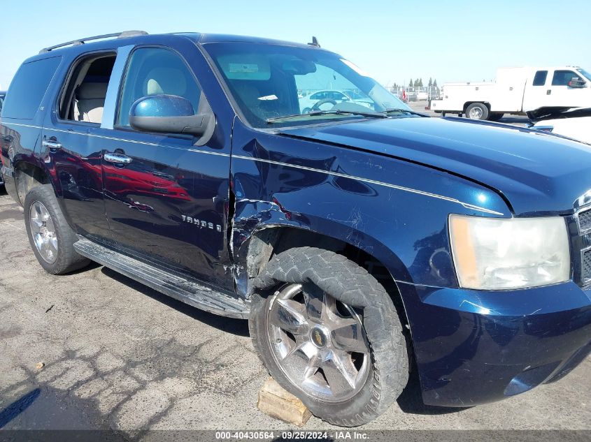
M 337 301 L 362 312 L 371 352 L 371 371 L 355 396 L 323 402 L 300 390 L 273 358 L 267 332 L 267 310 L 285 283 L 312 284 Z M 406 339 L 392 299 L 364 268 L 332 251 L 314 247 L 290 249 L 274 256 L 255 281 L 249 319 L 250 336 L 269 374 L 301 399 L 310 411 L 334 425 L 355 427 L 378 417 L 399 397 L 408 382 Z

